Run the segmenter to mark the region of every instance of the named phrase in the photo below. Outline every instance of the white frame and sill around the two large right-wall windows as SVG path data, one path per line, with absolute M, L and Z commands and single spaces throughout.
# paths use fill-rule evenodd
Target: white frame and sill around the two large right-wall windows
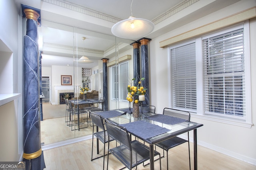
M 227 33 L 232 30 L 236 30 L 239 27 L 244 28 L 244 56 L 245 56 L 245 110 L 246 110 L 246 115 L 245 115 L 245 120 L 243 119 L 235 119 L 232 117 L 222 117 L 219 115 L 212 115 L 212 114 L 206 114 L 204 111 L 204 100 L 203 100 L 203 89 L 204 89 L 204 84 L 203 84 L 203 59 L 202 59 L 202 40 L 205 39 L 206 37 L 214 37 L 215 35 L 220 35 L 222 33 Z M 183 109 L 186 111 L 190 111 L 192 114 L 192 117 L 200 118 L 200 119 L 206 119 L 210 121 L 217 121 L 221 123 L 227 123 L 231 125 L 237 125 L 237 126 L 242 126 L 242 127 L 248 127 L 250 128 L 252 126 L 252 103 L 251 103 L 251 72 L 250 72 L 250 29 L 249 29 L 249 21 L 244 21 L 243 23 L 239 23 L 237 25 L 234 25 L 232 27 L 224 28 L 219 31 L 215 31 L 212 33 L 208 33 L 206 35 L 202 35 L 200 37 L 196 37 L 194 39 L 190 39 L 189 41 L 183 41 L 181 43 L 177 43 L 175 45 L 171 45 L 168 47 L 168 79 L 169 81 L 169 89 L 170 89 L 170 107 L 173 108 L 172 106 L 172 99 L 173 99 L 173 94 L 172 94 L 172 77 L 171 77 L 171 49 L 177 48 L 183 45 L 187 45 L 189 43 L 195 42 L 196 43 L 196 96 L 197 96 L 197 108 L 196 112 L 193 110 L 189 109 Z M 179 108 L 180 109 L 180 108 Z

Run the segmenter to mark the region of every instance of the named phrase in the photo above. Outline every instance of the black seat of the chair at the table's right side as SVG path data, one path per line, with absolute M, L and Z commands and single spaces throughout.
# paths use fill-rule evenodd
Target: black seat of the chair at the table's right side
M 182 139 L 180 137 L 173 137 L 171 139 L 168 139 L 166 141 L 163 141 L 163 142 L 160 142 L 160 143 L 157 143 L 156 146 L 164 149 L 164 150 L 169 150 L 173 147 L 176 147 L 182 143 L 185 143 L 185 142 L 188 142 L 187 140 L 185 139 Z

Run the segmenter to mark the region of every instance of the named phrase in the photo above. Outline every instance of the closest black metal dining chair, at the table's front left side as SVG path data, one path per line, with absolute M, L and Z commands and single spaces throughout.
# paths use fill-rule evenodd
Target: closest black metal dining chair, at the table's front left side
M 149 147 L 140 143 L 139 141 L 131 141 L 130 134 L 125 127 L 116 125 L 115 123 L 105 120 L 106 129 L 108 132 L 108 140 L 111 138 L 115 139 L 120 143 L 117 147 L 112 149 L 109 148 L 108 143 L 108 160 L 109 153 L 113 154 L 126 168 L 132 170 L 136 167 L 150 159 Z M 159 155 L 160 170 L 161 170 L 161 156 L 160 153 L 154 150 L 154 156 Z M 107 160 L 107 170 L 108 170 L 108 160 Z

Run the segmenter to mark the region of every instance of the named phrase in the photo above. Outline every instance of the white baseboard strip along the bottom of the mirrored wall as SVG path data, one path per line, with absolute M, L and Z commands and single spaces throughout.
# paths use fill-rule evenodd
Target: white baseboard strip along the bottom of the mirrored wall
M 56 147 L 61 147 L 61 146 L 64 146 L 64 145 L 69 145 L 69 144 L 76 143 L 76 142 L 85 141 L 85 140 L 88 140 L 88 139 L 92 139 L 92 135 L 87 135 L 87 136 L 84 136 L 84 137 L 76 137 L 74 139 L 68 139 L 68 140 L 65 140 L 65 141 L 60 141 L 60 142 L 57 142 L 57 143 L 44 145 L 44 146 L 41 146 L 41 148 L 42 148 L 42 150 L 47 150 L 47 149 L 52 149 L 52 148 L 56 148 Z

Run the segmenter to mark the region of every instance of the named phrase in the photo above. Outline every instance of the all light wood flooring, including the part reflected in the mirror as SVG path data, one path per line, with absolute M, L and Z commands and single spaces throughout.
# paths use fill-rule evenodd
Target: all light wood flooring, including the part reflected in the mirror
M 54 112 L 54 109 L 51 109 Z M 86 125 L 86 124 L 85 124 Z M 81 125 L 81 127 L 85 126 Z M 71 131 L 71 127 L 66 126 L 65 117 L 46 119 L 41 121 L 41 142 L 45 145 L 81 137 L 92 134 L 92 127 L 81 129 L 81 131 Z M 100 144 L 100 154 L 103 154 L 103 144 Z M 96 144 L 96 142 L 94 142 Z M 115 143 L 111 142 L 111 147 Z M 94 145 L 94 157 L 96 157 L 96 145 Z M 107 145 L 106 145 L 107 148 Z M 91 161 L 92 139 L 44 150 L 44 160 L 46 168 L 44 170 L 99 170 L 102 169 L 103 158 Z M 107 149 L 106 149 L 107 150 Z M 191 167 L 194 169 L 193 143 L 190 144 Z M 161 153 L 162 150 L 157 148 Z M 166 153 L 165 153 L 166 154 Z M 105 168 L 106 169 L 105 156 Z M 161 159 L 162 170 L 166 170 L 166 157 Z M 109 170 L 123 168 L 114 156 L 110 155 Z M 156 170 L 160 169 L 159 160 L 154 164 Z M 135 169 L 135 168 L 134 168 Z M 138 170 L 149 170 L 149 166 L 138 166 Z M 178 147 L 169 150 L 169 169 L 170 170 L 188 170 L 188 145 L 184 143 Z M 220 154 L 210 149 L 198 146 L 198 170 L 256 170 L 256 166 Z

